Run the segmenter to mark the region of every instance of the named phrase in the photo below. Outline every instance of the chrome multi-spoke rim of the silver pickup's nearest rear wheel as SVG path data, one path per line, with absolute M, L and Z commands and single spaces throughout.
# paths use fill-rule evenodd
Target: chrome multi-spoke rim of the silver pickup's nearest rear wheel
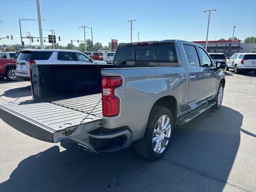
M 155 153 L 162 153 L 170 139 L 172 126 L 170 124 L 170 117 L 167 115 L 161 116 L 154 128 L 152 136 L 152 146 Z

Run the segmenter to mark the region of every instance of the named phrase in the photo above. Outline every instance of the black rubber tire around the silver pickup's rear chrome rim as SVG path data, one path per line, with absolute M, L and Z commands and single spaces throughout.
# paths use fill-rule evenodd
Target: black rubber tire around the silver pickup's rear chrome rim
M 158 120 L 164 115 L 167 115 L 170 118 L 170 125 L 171 125 L 170 139 L 168 140 L 168 143 L 165 149 L 160 153 L 156 153 L 154 152 L 153 143 L 152 143 L 153 132 Z M 174 129 L 174 121 L 173 121 L 172 113 L 170 112 L 170 110 L 162 106 L 153 106 L 148 118 L 148 124 L 145 130 L 144 138 L 135 144 L 136 151 L 140 156 L 152 161 L 162 158 L 162 156 L 164 156 L 164 154 L 168 150 L 168 147 L 170 146 L 170 140 L 171 140 L 173 129 Z

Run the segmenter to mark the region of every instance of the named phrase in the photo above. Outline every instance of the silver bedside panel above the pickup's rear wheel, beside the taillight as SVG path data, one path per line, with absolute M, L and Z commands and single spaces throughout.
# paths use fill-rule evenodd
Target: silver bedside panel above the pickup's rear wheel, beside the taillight
M 178 112 L 186 105 L 187 73 L 183 67 L 102 69 L 102 76 L 121 76 L 122 86 L 115 89 L 120 99 L 120 113 L 103 118 L 104 128 L 128 126 L 132 141 L 143 138 L 154 103 L 164 96 L 174 96 Z

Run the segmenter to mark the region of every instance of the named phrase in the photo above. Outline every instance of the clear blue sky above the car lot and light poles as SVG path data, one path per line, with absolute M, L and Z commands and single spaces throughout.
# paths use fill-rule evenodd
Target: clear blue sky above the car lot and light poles
M 40 0 L 43 29 L 54 29 L 61 36 L 59 44 L 66 45 L 70 40 L 83 40 L 83 29 L 87 25 L 93 29 L 94 42 L 107 45 L 111 39 L 130 42 L 130 19 L 137 20 L 133 27 L 133 41 L 183 39 L 205 40 L 208 13 L 203 10 L 217 9 L 211 13 L 208 40 L 227 39 L 235 35 L 244 40 L 256 36 L 256 1 L 75 1 Z M 12 34 L 14 40 L 2 39 L 1 44 L 20 44 L 19 19 L 37 19 L 36 0 L 0 0 L 0 36 Z M 37 21 L 22 21 L 22 36 L 30 32 L 39 36 Z M 87 29 L 87 32 L 90 32 Z M 43 36 L 50 32 L 43 31 Z M 86 38 L 91 34 L 86 33 Z M 28 39 L 24 39 L 29 44 Z M 34 42 L 34 45 L 40 43 Z M 74 43 L 78 46 L 78 43 Z M 48 45 L 46 43 L 45 45 Z

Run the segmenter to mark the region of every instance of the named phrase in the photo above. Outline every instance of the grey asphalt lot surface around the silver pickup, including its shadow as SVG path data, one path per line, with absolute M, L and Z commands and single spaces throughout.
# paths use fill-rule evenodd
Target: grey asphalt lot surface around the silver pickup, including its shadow
M 0 121 L 0 191 L 256 191 L 256 75 L 226 72 L 222 107 L 176 128 L 161 160 L 133 147 L 93 154 Z M 0 102 L 31 99 L 30 82 L 0 80 Z

